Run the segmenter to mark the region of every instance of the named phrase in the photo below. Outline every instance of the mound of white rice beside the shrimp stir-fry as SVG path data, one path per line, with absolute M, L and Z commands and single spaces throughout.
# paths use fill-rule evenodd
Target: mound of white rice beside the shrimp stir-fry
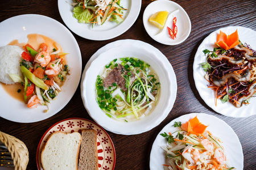
M 9 76 L 11 73 L 23 77 L 19 66 L 23 52 L 23 48 L 16 45 L 6 45 L 0 48 L 0 82 L 14 84 Z

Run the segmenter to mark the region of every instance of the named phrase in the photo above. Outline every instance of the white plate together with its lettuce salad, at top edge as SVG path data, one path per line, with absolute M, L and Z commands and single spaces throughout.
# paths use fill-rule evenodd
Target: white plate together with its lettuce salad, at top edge
M 58 1 L 61 18 L 71 31 L 89 40 L 109 40 L 126 32 L 138 18 L 142 3 L 141 0 L 76 2 Z

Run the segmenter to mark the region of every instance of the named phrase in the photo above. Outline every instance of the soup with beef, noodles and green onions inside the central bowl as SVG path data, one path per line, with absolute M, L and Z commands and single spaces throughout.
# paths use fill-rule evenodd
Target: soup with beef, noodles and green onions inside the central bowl
M 138 58 L 114 59 L 96 80 L 99 107 L 117 120 L 137 120 L 155 107 L 160 92 L 158 75 Z

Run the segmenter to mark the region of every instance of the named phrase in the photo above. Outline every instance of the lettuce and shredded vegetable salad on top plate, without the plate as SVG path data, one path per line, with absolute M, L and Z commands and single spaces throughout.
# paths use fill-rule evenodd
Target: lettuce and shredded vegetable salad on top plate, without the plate
M 120 0 L 75 0 L 71 5 L 73 16 L 80 23 L 90 23 L 102 25 L 107 20 L 117 24 L 123 21 L 123 10 L 127 10 L 120 5 Z

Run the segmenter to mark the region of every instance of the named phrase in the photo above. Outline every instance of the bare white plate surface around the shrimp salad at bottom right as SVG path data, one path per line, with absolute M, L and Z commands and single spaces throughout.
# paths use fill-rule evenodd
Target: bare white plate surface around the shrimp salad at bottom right
M 176 131 L 177 128 L 174 128 L 173 126 L 174 122 L 180 121 L 181 124 L 184 124 L 195 116 L 197 116 L 202 124 L 209 125 L 207 130 L 209 130 L 210 133 L 221 139 L 226 158 L 229 160 L 230 165 L 236 169 L 243 169 L 243 151 L 237 134 L 228 124 L 226 124 L 226 122 L 222 121 L 220 118 L 205 113 L 185 114 L 175 118 L 175 120 L 172 120 L 169 124 L 164 126 L 164 128 L 156 136 L 156 139 L 152 145 L 150 153 L 150 169 L 163 169 L 163 164 L 167 164 L 165 151 L 161 148 L 161 146 L 167 145 L 167 141 L 166 138 L 162 137 L 160 134 L 164 132 L 172 133 Z

